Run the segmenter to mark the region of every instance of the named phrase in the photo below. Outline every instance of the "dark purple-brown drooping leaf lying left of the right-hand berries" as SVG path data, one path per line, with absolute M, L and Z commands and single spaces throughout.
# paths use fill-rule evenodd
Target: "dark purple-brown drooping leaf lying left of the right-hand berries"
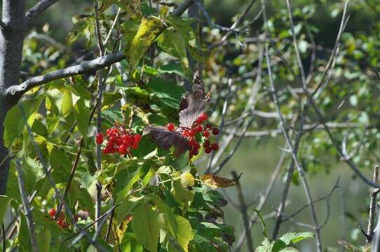
M 161 148 L 168 150 L 170 146 L 175 146 L 176 157 L 189 150 L 189 140 L 179 132 L 170 131 L 162 126 L 145 127 L 143 134 L 149 133 L 153 141 Z

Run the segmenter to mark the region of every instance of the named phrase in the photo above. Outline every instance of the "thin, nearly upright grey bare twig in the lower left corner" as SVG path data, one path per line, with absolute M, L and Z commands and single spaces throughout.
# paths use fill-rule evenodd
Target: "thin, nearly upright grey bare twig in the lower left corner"
M 24 176 L 22 174 L 21 162 L 19 159 L 16 160 L 16 168 L 17 168 L 17 172 L 18 172 L 18 176 L 17 176 L 18 188 L 20 190 L 22 207 L 24 208 L 25 217 L 27 219 L 27 226 L 28 226 L 32 251 L 38 252 L 39 246 L 37 245 L 36 230 L 34 229 L 34 221 L 33 221 L 32 211 L 29 208 L 29 204 L 28 204 L 29 202 L 27 200 L 28 197 L 27 197 L 27 192 L 25 190 L 25 181 L 24 181 Z

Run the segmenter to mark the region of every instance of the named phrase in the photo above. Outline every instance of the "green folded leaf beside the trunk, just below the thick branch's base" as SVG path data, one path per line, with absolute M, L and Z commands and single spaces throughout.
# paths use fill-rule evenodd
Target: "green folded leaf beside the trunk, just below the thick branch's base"
M 34 115 L 37 113 L 41 102 L 42 97 L 20 103 L 29 126 L 33 125 Z M 6 119 L 4 120 L 4 146 L 8 148 L 11 147 L 13 141 L 22 134 L 22 130 L 24 129 L 25 125 L 25 120 L 22 117 L 20 107 L 17 104 L 8 111 L 6 114 Z

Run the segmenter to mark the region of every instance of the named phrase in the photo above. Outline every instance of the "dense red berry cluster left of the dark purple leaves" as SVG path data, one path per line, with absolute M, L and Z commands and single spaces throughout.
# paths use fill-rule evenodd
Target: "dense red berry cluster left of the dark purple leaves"
M 104 154 L 118 153 L 130 155 L 130 148 L 137 149 L 141 141 L 140 134 L 134 134 L 133 132 L 123 127 L 112 127 L 107 130 L 107 145 L 103 149 Z M 102 144 L 104 141 L 104 135 L 98 133 L 95 137 L 96 144 Z

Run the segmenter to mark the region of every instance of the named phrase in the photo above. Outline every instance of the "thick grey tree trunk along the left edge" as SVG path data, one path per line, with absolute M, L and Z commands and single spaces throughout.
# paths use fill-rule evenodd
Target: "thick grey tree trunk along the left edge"
M 5 195 L 9 159 L 4 147 L 3 124 L 8 110 L 18 102 L 18 97 L 7 97 L 6 89 L 20 81 L 22 44 L 27 29 L 24 0 L 3 0 L 2 22 L 6 27 L 0 30 L 0 195 Z

